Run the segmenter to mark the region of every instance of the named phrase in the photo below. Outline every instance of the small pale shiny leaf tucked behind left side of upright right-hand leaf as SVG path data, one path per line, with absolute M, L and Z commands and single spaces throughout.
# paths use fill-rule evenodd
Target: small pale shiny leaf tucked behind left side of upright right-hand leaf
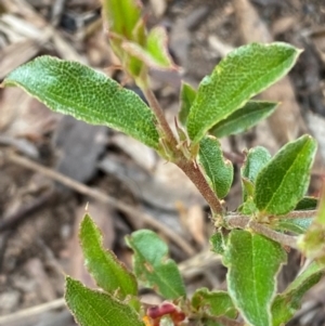
M 257 146 L 246 153 L 246 159 L 240 169 L 244 201 L 255 194 L 255 181 L 261 169 L 271 159 L 271 154 L 264 147 Z

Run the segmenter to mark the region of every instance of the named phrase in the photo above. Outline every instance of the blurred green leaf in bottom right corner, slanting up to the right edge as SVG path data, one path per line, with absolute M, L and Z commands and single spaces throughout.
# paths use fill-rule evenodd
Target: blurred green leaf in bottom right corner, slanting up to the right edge
M 303 295 L 324 275 L 325 268 L 316 262 L 296 277 L 288 288 L 277 295 L 272 305 L 273 326 L 285 325 L 300 309 Z

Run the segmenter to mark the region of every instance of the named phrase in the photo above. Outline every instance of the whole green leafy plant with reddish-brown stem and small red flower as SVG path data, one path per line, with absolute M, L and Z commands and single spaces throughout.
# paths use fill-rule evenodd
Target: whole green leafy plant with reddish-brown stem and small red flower
M 325 200 L 316 211 L 317 200 L 306 197 L 316 143 L 303 135 L 273 157 L 263 147 L 249 149 L 240 170 L 243 204 L 229 212 L 221 198 L 234 172 L 218 138 L 249 129 L 274 112 L 276 103 L 250 99 L 286 75 L 300 50 L 280 42 L 244 45 L 222 60 L 198 90 L 183 83 L 174 134 L 150 89 L 151 67 L 177 68 L 164 29 L 146 31 L 135 0 L 103 0 L 103 8 L 112 49 L 151 108 L 105 75 L 49 56 L 15 69 L 2 86 L 18 86 L 55 112 L 120 130 L 179 166 L 211 208 L 216 233 L 210 243 L 227 268 L 227 291 L 200 288 L 188 298 L 177 264 L 167 258 L 167 245 L 148 230 L 126 238 L 134 252 L 133 271 L 128 271 L 102 247 L 100 231 L 87 214 L 80 242 L 101 290 L 66 277 L 66 302 L 76 321 L 87 326 L 244 325 L 237 321 L 240 314 L 245 325 L 284 325 L 325 270 Z M 300 249 L 311 263 L 276 294 L 288 247 Z M 167 301 L 145 310 L 138 282 Z

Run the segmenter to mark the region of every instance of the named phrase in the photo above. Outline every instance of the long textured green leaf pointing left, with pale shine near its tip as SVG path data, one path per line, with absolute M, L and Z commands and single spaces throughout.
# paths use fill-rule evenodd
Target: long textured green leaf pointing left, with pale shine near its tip
M 13 70 L 5 86 L 18 86 L 51 109 L 120 130 L 158 148 L 152 110 L 132 91 L 76 62 L 41 56 Z

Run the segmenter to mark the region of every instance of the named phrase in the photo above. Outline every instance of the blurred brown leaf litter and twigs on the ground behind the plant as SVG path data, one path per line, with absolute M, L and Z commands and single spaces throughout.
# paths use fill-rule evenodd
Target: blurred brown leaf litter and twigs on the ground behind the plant
M 325 161 L 324 0 L 147 0 L 148 26 L 165 26 L 179 73 L 152 71 L 171 125 L 181 79 L 197 87 L 232 49 L 249 42 L 285 41 L 303 49 L 288 77 L 259 99 L 278 101 L 268 121 L 222 139 L 236 178 L 229 210 L 242 200 L 243 149 L 284 143 L 311 133 L 320 144 L 310 195 L 317 195 Z M 126 82 L 102 27 L 96 0 L 0 0 L 0 81 L 17 66 L 50 54 L 78 61 Z M 139 92 L 131 82 L 126 87 Z M 140 94 L 141 95 L 141 94 Z M 155 230 L 179 263 L 188 294 L 225 288 L 225 270 L 209 252 L 213 226 L 205 200 L 177 167 L 106 127 L 88 126 L 50 112 L 15 88 L 0 89 L 0 325 L 75 325 L 65 309 L 64 273 L 92 286 L 83 268 L 78 225 L 86 205 L 105 247 L 131 266 L 123 236 Z M 280 275 L 280 289 L 299 272 L 301 258 Z M 325 284 L 304 299 L 290 325 L 325 325 Z M 142 289 L 144 302 L 159 302 Z

